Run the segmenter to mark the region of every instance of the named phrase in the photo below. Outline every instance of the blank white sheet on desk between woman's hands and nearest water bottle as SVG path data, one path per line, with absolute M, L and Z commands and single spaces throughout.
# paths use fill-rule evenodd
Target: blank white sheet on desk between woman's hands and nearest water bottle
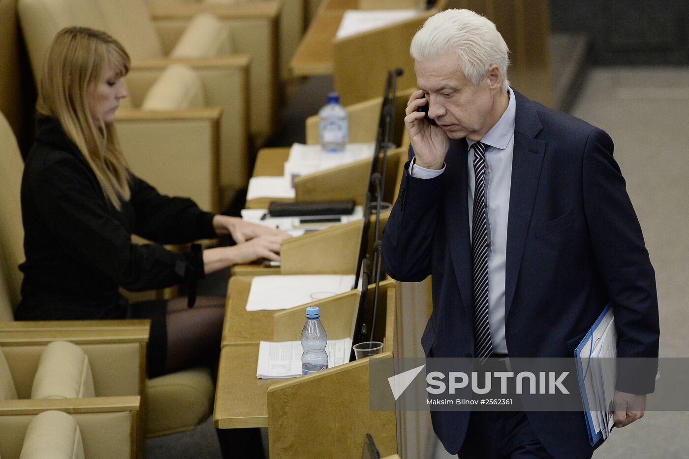
M 316 292 L 349 292 L 353 274 L 299 274 L 294 276 L 256 276 L 251 281 L 247 311 L 287 309 L 311 303 Z

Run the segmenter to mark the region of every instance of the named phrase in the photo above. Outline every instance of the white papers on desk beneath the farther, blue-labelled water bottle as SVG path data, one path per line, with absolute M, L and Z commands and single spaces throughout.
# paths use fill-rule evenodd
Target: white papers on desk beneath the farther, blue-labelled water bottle
M 344 152 L 324 152 L 320 145 L 294 143 L 285 162 L 285 183 L 291 186 L 294 177 L 327 170 L 331 167 L 373 158 L 375 143 L 348 143 Z

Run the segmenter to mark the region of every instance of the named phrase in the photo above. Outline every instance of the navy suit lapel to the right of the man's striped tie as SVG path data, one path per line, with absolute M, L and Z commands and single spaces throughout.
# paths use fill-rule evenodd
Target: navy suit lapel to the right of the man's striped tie
M 505 318 L 514 299 L 524 245 L 538 190 L 546 142 L 535 139 L 543 126 L 528 99 L 515 91 L 515 141 L 512 159 L 512 183 L 507 225 L 505 267 Z

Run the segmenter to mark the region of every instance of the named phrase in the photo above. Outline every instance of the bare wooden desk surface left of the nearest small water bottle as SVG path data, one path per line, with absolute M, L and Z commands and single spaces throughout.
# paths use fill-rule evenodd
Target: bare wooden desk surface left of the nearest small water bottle
M 268 387 L 284 379 L 256 378 L 258 343 L 220 351 L 213 424 L 218 429 L 268 427 Z

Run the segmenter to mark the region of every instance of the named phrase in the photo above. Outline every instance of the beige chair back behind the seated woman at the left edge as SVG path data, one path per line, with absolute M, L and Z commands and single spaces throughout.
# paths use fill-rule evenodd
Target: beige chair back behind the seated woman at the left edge
M 0 113 L 0 320 L 12 320 L 21 298 L 19 264 L 24 261 L 21 174 L 24 165 L 14 132 Z

